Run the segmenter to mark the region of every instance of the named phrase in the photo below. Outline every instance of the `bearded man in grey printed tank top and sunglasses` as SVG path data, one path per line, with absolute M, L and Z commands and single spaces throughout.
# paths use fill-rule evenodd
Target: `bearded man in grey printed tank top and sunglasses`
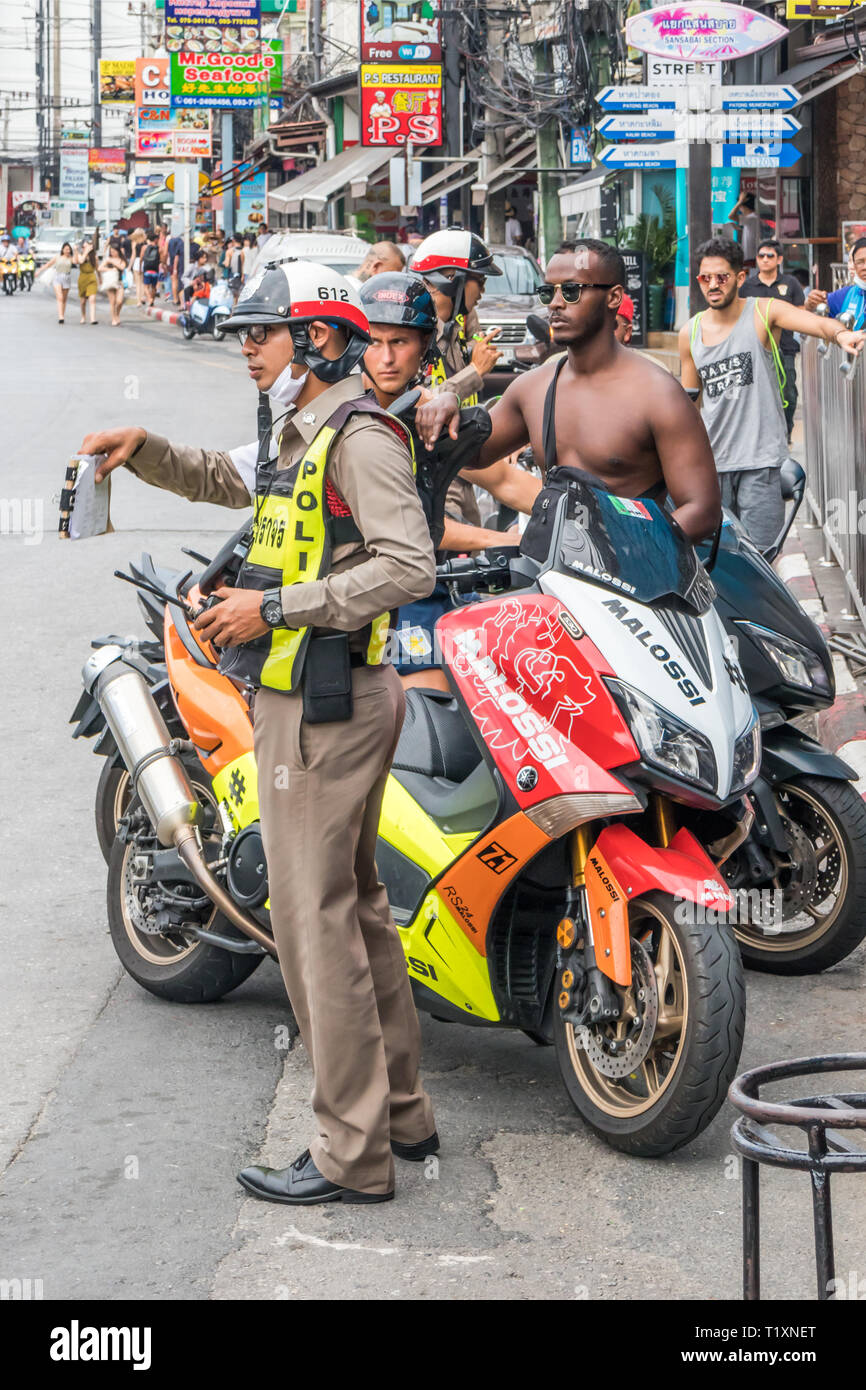
M 742 249 L 726 238 L 698 247 L 698 281 L 708 303 L 680 329 L 683 385 L 695 400 L 716 457 L 721 503 L 765 549 L 784 518 L 780 467 L 788 453 L 783 406 L 783 328 L 827 338 L 853 354 L 866 332 L 840 328 L 780 299 L 740 299 Z

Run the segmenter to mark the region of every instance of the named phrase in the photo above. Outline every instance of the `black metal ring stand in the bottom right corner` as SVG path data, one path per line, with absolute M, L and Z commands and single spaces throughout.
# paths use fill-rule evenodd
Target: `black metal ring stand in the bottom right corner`
M 866 1152 L 838 1130 L 866 1130 L 866 1093 L 810 1095 L 799 1101 L 762 1101 L 760 1087 L 792 1076 L 823 1072 L 866 1072 L 866 1052 L 840 1052 L 831 1056 L 805 1056 L 791 1062 L 756 1066 L 735 1076 L 728 1099 L 741 1116 L 731 1127 L 734 1148 L 742 1155 L 742 1297 L 760 1298 L 760 1163 L 806 1170 L 812 1182 L 815 1219 L 815 1269 L 817 1297 L 833 1298 L 830 1283 L 835 1279 L 833 1248 L 833 1211 L 830 1177 L 833 1173 L 866 1173 Z M 792 1125 L 805 1130 L 809 1148 L 790 1150 L 766 1129 L 767 1125 Z

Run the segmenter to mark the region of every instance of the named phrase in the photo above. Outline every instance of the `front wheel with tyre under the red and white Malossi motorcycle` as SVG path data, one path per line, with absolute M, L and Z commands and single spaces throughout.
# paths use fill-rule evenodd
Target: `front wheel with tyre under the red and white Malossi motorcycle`
M 575 1109 L 612 1148 L 638 1158 L 696 1138 L 737 1073 L 742 962 L 730 927 L 699 917 L 701 909 L 663 892 L 630 903 L 632 981 L 616 987 L 621 1017 L 582 1029 L 553 1008 L 556 1055 Z

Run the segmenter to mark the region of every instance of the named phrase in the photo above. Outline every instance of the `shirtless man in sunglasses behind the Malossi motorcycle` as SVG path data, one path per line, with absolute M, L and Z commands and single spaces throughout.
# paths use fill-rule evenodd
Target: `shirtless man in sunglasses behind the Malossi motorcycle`
M 555 382 L 553 439 L 556 463 L 592 474 L 617 496 L 637 498 L 662 484 L 674 503 L 674 518 L 692 541 L 716 530 L 719 478 L 706 430 L 680 384 L 614 336 L 626 265 L 606 242 L 564 243 L 548 264 L 539 292 L 549 304 L 550 335 L 566 357 L 518 377 L 491 410 L 493 430 L 481 467 L 531 443 L 545 460 L 544 407 Z M 455 395 L 421 406 L 416 430 L 430 448 L 448 428 L 457 431 Z M 484 474 L 464 470 L 484 486 Z

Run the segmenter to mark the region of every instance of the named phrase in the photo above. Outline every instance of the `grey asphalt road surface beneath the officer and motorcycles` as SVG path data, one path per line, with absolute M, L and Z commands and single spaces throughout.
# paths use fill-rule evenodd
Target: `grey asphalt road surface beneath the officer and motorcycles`
M 0 303 L 3 499 L 43 517 L 43 534 L 0 537 L 0 1279 L 42 1279 L 60 1300 L 737 1297 L 730 1109 L 667 1159 L 623 1158 L 523 1034 L 423 1019 L 443 1147 L 430 1170 L 398 1163 L 395 1202 L 243 1195 L 243 1163 L 282 1165 L 310 1137 L 278 970 L 209 1006 L 160 1002 L 122 973 L 93 833 L 100 760 L 67 727 L 90 637 L 142 626 L 113 570 L 142 549 L 181 564 L 181 545 L 209 552 L 235 518 L 115 474 L 114 535 L 54 532 L 89 428 L 232 446 L 254 432 L 254 393 L 228 345 L 183 343 L 135 310 L 113 329 L 101 304 L 95 334 L 71 309 L 58 329 L 47 296 Z M 822 977 L 751 974 L 744 1066 L 860 1049 L 865 969 L 860 949 Z M 863 1269 L 860 1187 L 837 1182 L 840 1273 Z M 770 1173 L 765 1194 L 765 1297 L 810 1298 L 808 1184 Z

